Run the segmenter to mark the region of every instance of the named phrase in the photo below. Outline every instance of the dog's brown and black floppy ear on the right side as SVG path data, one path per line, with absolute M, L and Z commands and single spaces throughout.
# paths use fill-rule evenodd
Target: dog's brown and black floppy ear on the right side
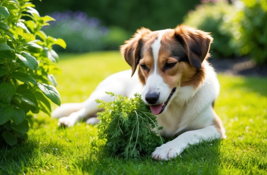
M 194 68 L 200 69 L 203 60 L 209 55 L 213 40 L 210 33 L 184 25 L 178 25 L 174 30 L 176 39 L 180 41 L 187 52 L 190 64 Z

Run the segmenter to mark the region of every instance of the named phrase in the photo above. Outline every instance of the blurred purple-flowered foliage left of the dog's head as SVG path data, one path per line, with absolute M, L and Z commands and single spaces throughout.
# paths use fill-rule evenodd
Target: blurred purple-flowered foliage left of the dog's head
M 44 27 L 44 32 L 54 37 L 64 38 L 67 52 L 89 52 L 96 50 L 118 49 L 125 40 L 130 38 L 124 29 L 102 25 L 96 17 L 88 17 L 81 11 L 64 11 L 49 14 L 56 22 Z M 57 51 L 64 51 L 55 47 Z

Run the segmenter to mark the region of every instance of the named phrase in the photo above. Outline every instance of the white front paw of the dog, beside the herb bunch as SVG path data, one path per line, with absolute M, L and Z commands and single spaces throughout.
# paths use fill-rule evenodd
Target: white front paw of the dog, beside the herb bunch
M 157 147 L 151 154 L 151 157 L 156 160 L 170 160 L 173 157 L 179 156 L 182 151 L 183 149 L 179 148 L 179 146 L 167 142 Z

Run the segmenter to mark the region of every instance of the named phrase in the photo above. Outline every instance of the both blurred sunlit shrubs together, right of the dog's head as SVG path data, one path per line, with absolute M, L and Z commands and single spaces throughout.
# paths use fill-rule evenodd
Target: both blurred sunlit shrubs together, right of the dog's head
M 184 18 L 187 25 L 211 32 L 213 57 L 249 55 L 257 64 L 267 62 L 267 1 L 205 1 Z

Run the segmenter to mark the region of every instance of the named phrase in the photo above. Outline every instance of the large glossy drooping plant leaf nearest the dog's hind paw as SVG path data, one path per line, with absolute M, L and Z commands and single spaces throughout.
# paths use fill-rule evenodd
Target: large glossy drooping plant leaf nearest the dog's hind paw
M 60 95 L 55 87 L 39 82 L 37 83 L 37 85 L 40 88 L 40 90 L 44 93 L 44 95 L 48 97 L 48 99 L 50 99 L 53 103 L 60 106 L 61 104 Z

